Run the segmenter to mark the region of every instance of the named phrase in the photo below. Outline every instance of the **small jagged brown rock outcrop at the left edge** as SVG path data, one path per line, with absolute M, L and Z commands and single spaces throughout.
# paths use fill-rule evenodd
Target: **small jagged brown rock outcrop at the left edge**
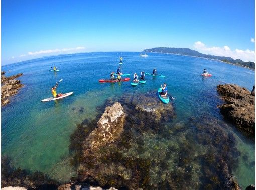
M 20 80 L 15 79 L 22 75 L 23 74 L 20 73 L 14 76 L 6 77 L 5 72 L 1 72 L 1 84 L 4 84 L 1 86 L 1 106 L 10 103 L 9 97 L 15 95 L 18 90 L 24 86 L 24 84 L 21 84 Z

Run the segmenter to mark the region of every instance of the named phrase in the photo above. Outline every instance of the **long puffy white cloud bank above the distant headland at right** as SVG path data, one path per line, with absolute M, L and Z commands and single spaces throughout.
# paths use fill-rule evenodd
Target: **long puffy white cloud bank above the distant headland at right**
M 253 39 L 254 40 L 254 39 Z M 194 48 L 205 54 L 211 54 L 215 56 L 226 56 L 233 59 L 241 59 L 243 61 L 255 61 L 255 52 L 249 49 L 240 50 L 235 49 L 231 50 L 228 46 L 224 47 L 207 47 L 201 41 L 194 43 Z

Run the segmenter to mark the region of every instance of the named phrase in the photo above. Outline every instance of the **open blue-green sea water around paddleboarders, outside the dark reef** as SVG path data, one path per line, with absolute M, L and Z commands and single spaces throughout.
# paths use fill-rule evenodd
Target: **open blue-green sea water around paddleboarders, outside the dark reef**
M 147 82 L 136 87 L 130 82 L 99 83 L 98 79 L 109 78 L 111 71 L 116 72 L 119 56 L 123 57 L 123 73 L 133 75 L 134 72 L 152 72 L 157 68 L 158 73 L 166 78 L 146 76 Z M 51 72 L 50 67 L 54 65 L 61 71 Z M 213 76 L 200 76 L 204 68 Z M 24 73 L 19 79 L 25 84 L 12 102 L 2 108 L 2 155 L 12 157 L 16 167 L 43 171 L 62 181 L 74 174 L 68 163 L 70 134 L 76 124 L 95 118 L 96 107 L 108 97 L 157 91 L 165 82 L 168 92 L 176 98 L 175 124 L 191 116 L 207 115 L 223 120 L 217 108 L 222 100 L 216 86 L 234 83 L 251 90 L 254 85 L 254 71 L 249 69 L 213 60 L 157 53 L 149 53 L 146 58 L 139 57 L 138 52 L 60 55 L 2 66 L 2 70 L 11 71 L 7 76 Z M 47 90 L 60 79 L 63 81 L 57 92 L 74 91 L 74 94 L 56 102 L 42 103 L 40 100 L 51 96 Z M 254 161 L 254 143 L 233 127 L 226 130 L 235 135 L 237 149 L 241 152 L 233 175 L 243 187 L 254 184 L 254 165 L 249 164 Z M 144 138 L 159 143 L 154 137 Z M 245 155 L 247 161 L 244 161 Z

